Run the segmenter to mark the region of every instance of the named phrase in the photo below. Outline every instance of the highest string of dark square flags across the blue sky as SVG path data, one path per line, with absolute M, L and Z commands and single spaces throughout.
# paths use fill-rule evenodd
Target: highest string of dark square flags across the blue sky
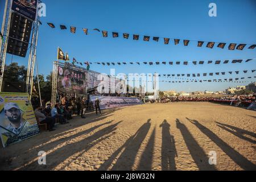
M 49 25 L 49 27 L 51 28 L 55 28 L 55 25 L 53 23 L 47 23 Z M 100 30 L 98 28 L 94 28 L 94 29 L 89 29 L 89 28 L 82 28 L 82 27 L 73 27 L 70 26 L 70 31 L 72 34 L 76 34 L 76 30 L 77 28 L 81 28 L 81 30 L 85 33 L 85 35 L 88 35 L 88 31 L 97 31 L 97 32 L 102 32 L 102 36 L 104 38 L 108 37 L 108 32 L 106 30 Z M 67 30 L 67 26 L 60 24 L 60 30 Z M 113 38 L 118 38 L 119 37 L 119 32 L 112 32 L 112 36 Z M 184 46 L 188 46 L 189 42 L 197 42 L 197 47 L 203 47 L 204 43 L 207 43 L 207 48 L 213 48 L 214 45 L 218 44 L 217 47 L 224 49 L 227 43 L 224 42 L 216 42 L 216 41 L 203 41 L 203 40 L 188 40 L 188 39 L 178 39 L 178 38 L 168 38 L 168 37 L 160 37 L 160 36 L 148 36 L 148 35 L 139 35 L 139 34 L 131 34 L 131 33 L 121 33 L 121 35 L 123 35 L 124 39 L 129 39 L 130 35 L 133 35 L 133 40 L 139 40 L 140 37 L 143 37 L 143 41 L 149 42 L 150 38 L 152 38 L 152 40 L 154 40 L 155 42 L 159 42 L 159 39 L 163 39 L 164 40 L 164 44 L 169 44 L 170 40 L 173 41 L 173 43 L 176 45 L 178 45 L 180 43 L 180 40 L 183 40 L 183 44 Z M 228 49 L 229 50 L 240 50 L 242 51 L 246 46 L 247 49 L 254 49 L 256 47 L 256 44 L 245 44 L 245 43 L 229 43 Z

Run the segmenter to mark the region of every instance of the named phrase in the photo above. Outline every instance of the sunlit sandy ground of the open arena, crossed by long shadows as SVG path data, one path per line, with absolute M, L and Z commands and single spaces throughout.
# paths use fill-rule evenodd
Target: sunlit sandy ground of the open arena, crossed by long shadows
M 39 151 L 47 152 L 46 165 L 38 164 Z M 180 102 L 88 113 L 1 148 L 0 169 L 256 170 L 256 112 Z

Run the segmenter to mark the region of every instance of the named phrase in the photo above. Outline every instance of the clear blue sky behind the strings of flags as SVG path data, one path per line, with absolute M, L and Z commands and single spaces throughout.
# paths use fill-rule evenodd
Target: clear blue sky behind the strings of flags
M 0 2 L 1 23 L 4 2 Z M 205 40 L 225 43 L 256 43 L 256 1 L 254 0 L 225 0 L 225 1 L 81 1 L 81 0 L 44 0 L 47 16 L 42 17 L 38 40 L 39 72 L 47 75 L 52 71 L 52 63 L 56 59 L 57 47 L 75 57 L 77 61 L 200 61 L 226 59 L 256 58 L 256 49 L 243 51 L 229 51 L 227 46 L 220 49 L 197 47 L 196 42 L 184 47 L 183 43 L 174 46 L 173 41 L 164 45 L 159 42 L 135 41 L 122 38 L 120 33 L 129 32 L 139 35 L 180 38 L 188 40 Z M 208 5 L 217 5 L 217 17 L 208 15 Z M 52 29 L 47 22 L 54 23 Z M 59 24 L 64 24 L 68 30 L 60 30 Z M 77 28 L 76 34 L 71 34 L 69 26 Z M 108 30 L 109 37 L 103 38 L 101 32 L 82 32 L 84 28 L 99 28 Z M 119 32 L 119 38 L 112 38 L 112 31 Z M 12 56 L 7 55 L 7 64 Z M 27 65 L 27 58 L 13 56 L 13 61 Z M 210 73 L 256 69 L 255 61 L 241 64 L 204 64 L 204 65 L 122 65 L 102 66 L 90 65 L 93 71 L 110 73 L 115 68 L 116 73 Z M 239 75 L 200 77 L 203 79 L 237 78 L 255 76 L 254 73 Z M 161 80 L 161 79 L 160 79 Z M 172 81 L 170 78 L 162 80 Z M 256 81 L 245 79 L 245 81 Z M 247 83 L 246 83 L 247 84 Z M 246 85 L 245 83 L 243 85 Z M 203 82 L 203 83 L 166 83 L 160 82 L 160 90 L 177 90 L 192 92 L 196 90 L 224 90 L 229 86 L 242 85 L 231 82 Z

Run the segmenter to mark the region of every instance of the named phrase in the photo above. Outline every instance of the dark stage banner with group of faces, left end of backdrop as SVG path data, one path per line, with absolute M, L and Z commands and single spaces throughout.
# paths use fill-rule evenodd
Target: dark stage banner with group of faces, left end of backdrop
M 57 90 L 67 94 L 86 94 L 85 72 L 58 67 Z

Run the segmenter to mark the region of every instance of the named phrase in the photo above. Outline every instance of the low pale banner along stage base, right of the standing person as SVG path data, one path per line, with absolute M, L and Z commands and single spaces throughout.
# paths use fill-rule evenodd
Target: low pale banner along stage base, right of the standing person
M 96 98 L 101 101 L 101 109 L 143 104 L 143 102 L 137 97 L 90 96 L 90 101 L 93 102 L 93 106 Z

